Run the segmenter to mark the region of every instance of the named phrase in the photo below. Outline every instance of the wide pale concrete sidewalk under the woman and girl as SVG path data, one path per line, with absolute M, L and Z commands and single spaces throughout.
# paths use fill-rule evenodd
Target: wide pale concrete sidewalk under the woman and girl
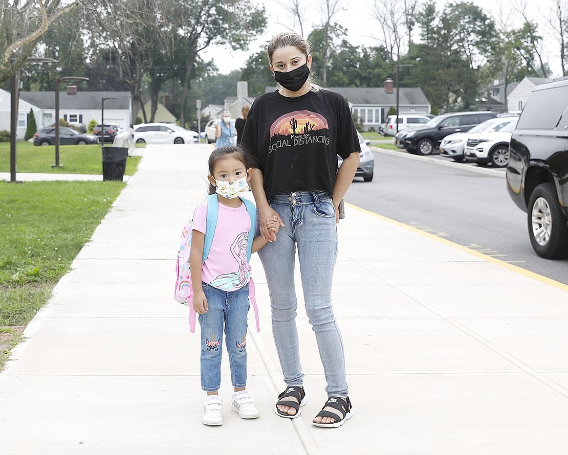
M 567 453 L 568 287 L 350 205 L 333 293 L 353 418 L 310 424 L 325 382 L 299 277 L 308 402 L 298 419 L 274 414 L 284 385 L 254 256 L 247 388 L 261 416 L 231 411 L 225 355 L 224 424 L 203 425 L 199 336 L 173 267 L 211 150 L 147 146 L 0 374 L 2 455 Z

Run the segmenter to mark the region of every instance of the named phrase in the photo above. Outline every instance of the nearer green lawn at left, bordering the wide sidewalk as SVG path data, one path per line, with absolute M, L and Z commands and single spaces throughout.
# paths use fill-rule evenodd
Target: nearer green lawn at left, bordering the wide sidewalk
M 53 287 L 125 186 L 123 182 L 0 182 L 0 332 L 26 326 L 49 300 Z M 9 348 L 17 341 L 16 334 Z M 9 348 L 0 351 L 0 369 Z

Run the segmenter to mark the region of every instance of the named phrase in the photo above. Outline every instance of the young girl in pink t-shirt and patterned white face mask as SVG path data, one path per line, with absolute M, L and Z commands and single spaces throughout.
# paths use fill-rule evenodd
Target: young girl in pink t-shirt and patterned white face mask
M 248 242 L 252 252 L 264 246 L 261 236 L 249 239 L 250 216 L 240 195 L 247 189 L 252 163 L 238 147 L 215 149 L 209 157 L 208 194 L 217 193 L 219 213 L 215 234 L 207 259 L 202 263 L 206 231 L 207 201 L 193 214 L 190 269 L 193 285 L 193 307 L 201 325 L 201 387 L 207 392 L 202 422 L 223 423 L 221 384 L 221 352 L 223 328 L 231 365 L 231 381 L 235 392 L 231 408 L 243 419 L 258 417 L 258 409 L 245 390 L 247 384 L 247 313 L 249 309 L 250 266 Z M 277 233 L 276 218 L 266 222 L 270 232 Z M 223 327 L 224 326 L 224 327 Z

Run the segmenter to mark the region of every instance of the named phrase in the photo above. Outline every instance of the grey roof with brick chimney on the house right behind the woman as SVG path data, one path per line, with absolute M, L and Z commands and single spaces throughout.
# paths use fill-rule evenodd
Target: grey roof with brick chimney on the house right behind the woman
M 266 91 L 274 91 L 274 87 L 266 87 Z M 371 106 L 396 106 L 396 89 L 392 93 L 385 92 L 384 87 L 328 87 L 345 97 L 351 104 L 369 104 Z M 401 87 L 399 104 L 402 106 L 429 106 L 430 102 L 420 87 Z

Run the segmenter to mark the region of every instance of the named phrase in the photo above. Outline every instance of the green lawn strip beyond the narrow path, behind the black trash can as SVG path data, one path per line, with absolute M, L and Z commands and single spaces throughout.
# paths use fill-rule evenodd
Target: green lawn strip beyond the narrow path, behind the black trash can
M 136 172 L 141 157 L 129 157 L 126 175 Z M 16 170 L 48 174 L 101 174 L 102 158 L 99 145 L 62 145 L 59 148 L 59 163 L 55 164 L 55 145 L 35 146 L 31 142 L 18 141 L 16 145 Z M 10 172 L 10 142 L 0 142 L 0 172 Z

